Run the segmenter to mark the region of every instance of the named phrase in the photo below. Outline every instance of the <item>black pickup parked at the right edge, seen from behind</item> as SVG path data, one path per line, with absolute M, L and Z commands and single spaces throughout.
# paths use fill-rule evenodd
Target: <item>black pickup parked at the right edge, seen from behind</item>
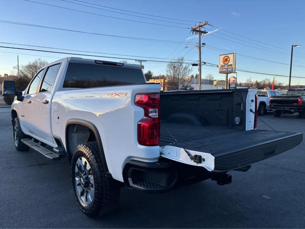
M 271 96 L 269 105 L 275 117 L 281 116 L 283 112 L 298 112 L 305 118 L 305 88 L 290 89 L 282 96 Z

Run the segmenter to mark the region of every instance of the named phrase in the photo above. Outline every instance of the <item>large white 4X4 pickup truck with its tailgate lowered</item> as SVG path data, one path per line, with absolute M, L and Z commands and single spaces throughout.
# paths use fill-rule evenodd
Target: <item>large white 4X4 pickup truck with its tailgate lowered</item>
M 67 156 L 74 194 L 90 217 L 115 208 L 120 188 L 168 191 L 287 151 L 302 133 L 257 130 L 256 89 L 161 92 L 141 67 L 68 57 L 38 71 L 15 96 L 15 147 Z M 56 184 L 54 184 L 56 185 Z

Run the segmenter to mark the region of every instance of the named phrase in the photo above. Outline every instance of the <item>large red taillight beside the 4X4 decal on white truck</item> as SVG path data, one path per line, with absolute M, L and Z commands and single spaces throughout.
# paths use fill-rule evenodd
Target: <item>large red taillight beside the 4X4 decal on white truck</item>
M 157 146 L 160 143 L 159 93 L 137 94 L 135 105 L 144 109 L 144 118 L 138 122 L 138 143 Z

